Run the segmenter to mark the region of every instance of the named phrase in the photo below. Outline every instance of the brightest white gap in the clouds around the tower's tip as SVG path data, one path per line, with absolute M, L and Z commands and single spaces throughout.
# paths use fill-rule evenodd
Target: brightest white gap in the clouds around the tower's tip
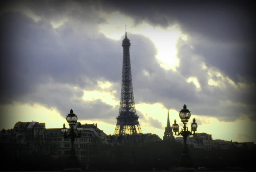
M 143 22 L 135 27 L 130 17 L 119 12 L 114 12 L 105 18 L 107 22 L 100 26 L 100 32 L 106 37 L 119 40 L 125 34 L 125 25 L 127 25 L 128 34 L 142 34 L 153 41 L 158 50 L 156 58 L 159 59 L 162 68 L 176 71 L 176 67 L 179 66 L 179 60 L 176 58 L 176 42 L 180 36 L 183 40 L 187 40 L 186 35 L 181 35 L 178 26 L 162 29 Z

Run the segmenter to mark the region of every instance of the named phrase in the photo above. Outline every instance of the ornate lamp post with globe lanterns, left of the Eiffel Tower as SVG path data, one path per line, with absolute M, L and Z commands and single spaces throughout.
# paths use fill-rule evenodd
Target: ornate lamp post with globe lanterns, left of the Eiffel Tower
M 62 135 L 65 139 L 69 138 L 71 140 L 71 150 L 70 150 L 70 156 L 68 160 L 68 166 L 71 168 L 74 168 L 79 165 L 79 161 L 76 157 L 76 151 L 74 148 L 74 141 L 76 138 L 81 137 L 81 133 L 83 131 L 83 127 L 81 126 L 81 123 L 79 122 L 77 126 L 77 133 L 75 133 L 74 127 L 77 122 L 77 116 L 73 113 L 73 110 L 70 110 L 70 114 L 67 115 L 66 118 L 68 125 L 70 126 L 70 131 L 68 132 L 68 129 L 65 127 L 65 123 L 63 124 L 63 128 L 61 128 Z

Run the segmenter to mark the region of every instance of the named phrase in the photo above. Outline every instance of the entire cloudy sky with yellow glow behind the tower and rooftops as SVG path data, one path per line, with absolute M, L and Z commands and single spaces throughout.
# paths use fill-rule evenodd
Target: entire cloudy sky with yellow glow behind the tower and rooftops
M 113 134 L 122 40 L 130 39 L 143 133 L 163 137 L 186 104 L 198 133 L 256 142 L 252 4 L 238 1 L 2 2 L 0 128 L 18 121 L 81 123 Z

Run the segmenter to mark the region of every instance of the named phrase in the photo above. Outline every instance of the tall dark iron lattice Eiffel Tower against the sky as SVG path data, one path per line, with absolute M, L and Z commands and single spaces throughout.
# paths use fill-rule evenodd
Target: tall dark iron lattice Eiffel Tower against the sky
M 123 73 L 120 109 L 117 117 L 114 135 L 141 134 L 141 128 L 136 114 L 132 80 L 131 80 L 131 62 L 130 62 L 130 40 L 125 32 L 123 40 Z

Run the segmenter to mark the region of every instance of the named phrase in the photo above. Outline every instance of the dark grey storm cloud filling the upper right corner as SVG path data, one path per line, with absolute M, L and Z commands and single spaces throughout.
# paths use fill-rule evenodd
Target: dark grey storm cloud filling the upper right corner
M 164 28 L 178 24 L 183 33 L 195 40 L 199 37 L 196 51 L 204 55 L 206 63 L 218 67 L 236 82 L 238 75 L 256 82 L 253 67 L 255 22 L 251 3 L 131 0 L 102 1 L 102 4 L 107 11 L 120 11 L 132 17 L 135 27 L 143 21 Z M 201 38 L 216 45 L 205 47 L 206 42 Z

